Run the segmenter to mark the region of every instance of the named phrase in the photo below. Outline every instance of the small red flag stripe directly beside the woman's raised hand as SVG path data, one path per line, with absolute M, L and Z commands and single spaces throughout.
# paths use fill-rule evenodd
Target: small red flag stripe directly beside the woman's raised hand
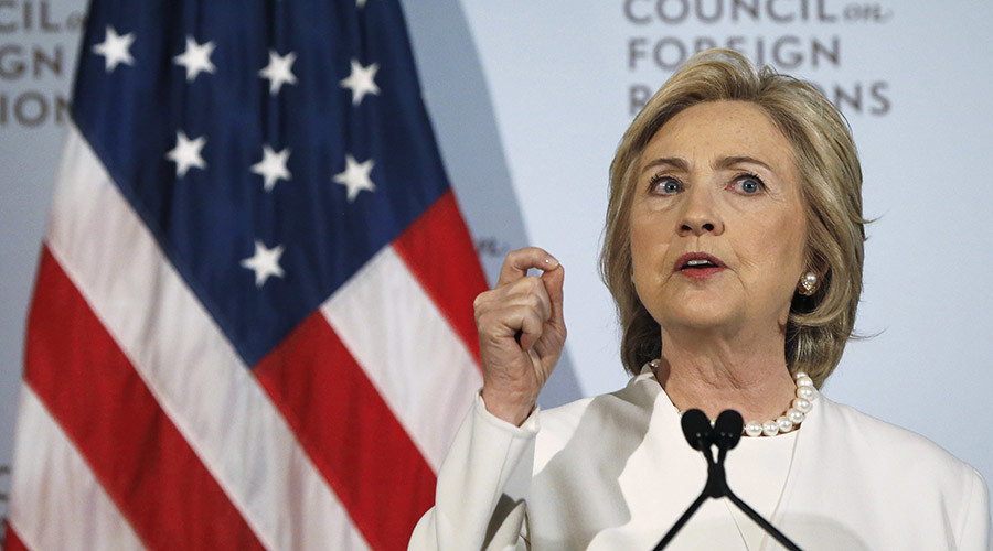
M 479 364 L 472 301 L 487 290 L 487 278 L 451 190 L 414 220 L 393 248 Z

